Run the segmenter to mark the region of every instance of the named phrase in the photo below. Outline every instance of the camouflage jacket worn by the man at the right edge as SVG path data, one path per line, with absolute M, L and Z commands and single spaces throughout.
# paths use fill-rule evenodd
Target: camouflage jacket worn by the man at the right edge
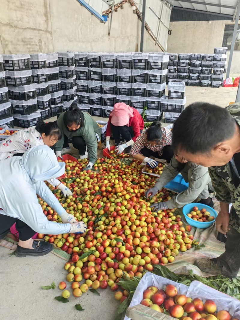
M 227 107 L 229 113 L 240 126 L 240 103 L 234 103 Z M 232 203 L 233 210 L 229 216 L 229 226 L 240 233 L 240 179 L 233 170 L 231 162 L 223 166 L 208 168 L 212 179 L 216 198 L 225 203 Z

